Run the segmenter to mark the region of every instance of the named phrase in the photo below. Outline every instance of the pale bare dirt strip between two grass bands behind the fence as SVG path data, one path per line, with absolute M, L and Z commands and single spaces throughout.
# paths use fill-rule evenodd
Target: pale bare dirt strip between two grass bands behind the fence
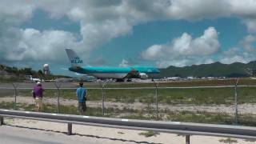
M 10 97 L 2 97 L 0 98 L 0 102 L 14 102 L 14 98 Z M 18 103 L 25 104 L 34 104 L 34 99 L 29 97 L 17 97 Z M 43 98 L 43 102 L 47 104 L 57 104 L 56 98 Z M 86 102 L 89 107 L 102 107 L 101 101 L 88 101 Z M 141 102 L 134 103 L 122 103 L 122 102 L 104 102 L 106 108 L 115 108 L 115 109 L 132 109 L 132 110 L 143 110 L 148 107 L 148 105 L 143 104 Z M 60 105 L 64 106 L 78 106 L 78 102 L 76 100 L 63 99 L 60 98 Z M 155 105 L 152 104 L 152 107 Z M 205 105 L 205 106 L 196 106 L 196 105 L 158 105 L 159 110 L 170 110 L 170 111 L 190 111 L 190 112 L 210 112 L 210 113 L 224 113 L 224 114 L 234 114 L 234 106 L 226 106 L 226 105 Z M 238 105 L 238 113 L 239 114 L 256 114 L 256 104 L 242 104 Z

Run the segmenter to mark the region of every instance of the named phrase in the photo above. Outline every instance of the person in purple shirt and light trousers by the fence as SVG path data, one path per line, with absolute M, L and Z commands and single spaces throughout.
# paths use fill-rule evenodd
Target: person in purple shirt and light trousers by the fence
M 33 97 L 35 102 L 35 111 L 42 110 L 42 94 L 44 89 L 41 82 L 37 82 L 37 86 L 34 86 Z

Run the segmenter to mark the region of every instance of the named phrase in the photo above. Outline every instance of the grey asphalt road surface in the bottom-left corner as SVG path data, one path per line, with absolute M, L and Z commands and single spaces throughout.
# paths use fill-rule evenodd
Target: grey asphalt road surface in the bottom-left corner
M 0 144 L 59 144 L 59 143 L 105 143 L 106 139 L 62 134 L 61 132 L 0 126 Z M 110 140 L 109 140 L 110 141 Z M 106 142 L 111 143 L 111 142 Z

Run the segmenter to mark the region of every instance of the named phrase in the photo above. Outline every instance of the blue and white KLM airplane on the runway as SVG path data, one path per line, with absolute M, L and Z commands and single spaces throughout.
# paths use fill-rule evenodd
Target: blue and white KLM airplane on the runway
M 70 59 L 70 71 L 79 74 L 87 74 L 98 79 L 116 79 L 117 82 L 124 82 L 130 78 L 154 78 L 155 74 L 159 74 L 158 68 L 150 66 L 130 66 L 130 67 L 92 67 L 81 66 L 83 61 L 78 57 L 78 54 L 71 49 L 65 49 L 68 58 Z

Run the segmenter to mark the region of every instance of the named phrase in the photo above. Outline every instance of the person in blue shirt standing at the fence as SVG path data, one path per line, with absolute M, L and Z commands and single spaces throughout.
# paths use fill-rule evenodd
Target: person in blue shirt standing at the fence
M 80 115 L 85 114 L 86 112 L 86 88 L 82 87 L 83 82 L 79 82 L 79 87 L 77 89 L 77 97 L 78 97 L 78 110 Z

